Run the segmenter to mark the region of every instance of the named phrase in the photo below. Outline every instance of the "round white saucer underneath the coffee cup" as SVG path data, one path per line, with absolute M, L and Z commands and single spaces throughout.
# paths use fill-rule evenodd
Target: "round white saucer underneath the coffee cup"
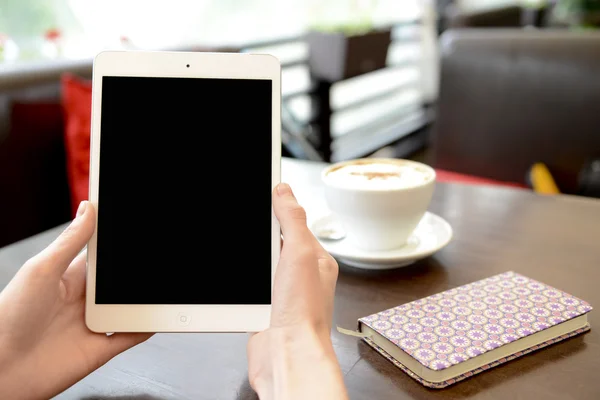
M 313 233 L 324 226 L 336 225 L 333 215 L 319 218 L 311 225 Z M 452 239 L 452 227 L 442 217 L 426 212 L 408 239 L 407 244 L 395 250 L 366 251 L 357 248 L 346 239 L 319 239 L 321 245 L 341 263 L 364 269 L 392 269 L 410 265 L 430 256 L 446 246 Z

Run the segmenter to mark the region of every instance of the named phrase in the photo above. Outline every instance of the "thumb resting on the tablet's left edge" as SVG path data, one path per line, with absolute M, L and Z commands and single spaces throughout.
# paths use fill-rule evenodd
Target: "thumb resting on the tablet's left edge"
M 29 268 L 44 269 L 60 279 L 92 237 L 95 225 L 96 213 L 93 206 L 82 201 L 75 219 L 54 242 L 28 261 Z

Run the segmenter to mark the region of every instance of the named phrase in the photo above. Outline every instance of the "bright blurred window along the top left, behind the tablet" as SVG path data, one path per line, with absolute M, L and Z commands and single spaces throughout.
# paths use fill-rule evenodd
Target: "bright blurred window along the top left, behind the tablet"
M 0 62 L 107 48 L 240 45 L 314 25 L 418 16 L 420 0 L 0 0 Z

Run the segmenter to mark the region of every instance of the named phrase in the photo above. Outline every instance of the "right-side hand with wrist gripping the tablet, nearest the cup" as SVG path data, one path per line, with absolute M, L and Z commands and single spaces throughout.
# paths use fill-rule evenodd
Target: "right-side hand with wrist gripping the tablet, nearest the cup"
M 283 246 L 269 329 L 248 342 L 248 377 L 260 398 L 344 399 L 331 343 L 337 262 L 306 224 L 291 188 L 277 186 L 273 208 Z

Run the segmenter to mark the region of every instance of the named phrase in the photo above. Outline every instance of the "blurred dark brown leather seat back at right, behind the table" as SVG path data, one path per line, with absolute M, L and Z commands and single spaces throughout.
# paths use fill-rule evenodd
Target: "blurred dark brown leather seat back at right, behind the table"
M 600 31 L 458 29 L 441 36 L 436 168 L 524 182 L 543 162 L 563 193 L 600 157 Z

